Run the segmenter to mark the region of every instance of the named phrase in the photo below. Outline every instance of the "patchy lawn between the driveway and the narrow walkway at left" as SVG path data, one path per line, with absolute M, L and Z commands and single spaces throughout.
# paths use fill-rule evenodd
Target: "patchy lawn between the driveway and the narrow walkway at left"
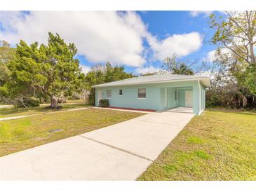
M 0 156 L 127 121 L 140 113 L 85 109 L 0 121 Z M 61 129 L 60 132 L 49 132 Z

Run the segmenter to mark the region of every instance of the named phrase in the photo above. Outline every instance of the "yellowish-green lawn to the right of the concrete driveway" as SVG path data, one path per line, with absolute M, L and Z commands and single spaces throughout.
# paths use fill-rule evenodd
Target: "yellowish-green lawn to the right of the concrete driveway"
M 256 113 L 208 109 L 138 180 L 256 180 Z

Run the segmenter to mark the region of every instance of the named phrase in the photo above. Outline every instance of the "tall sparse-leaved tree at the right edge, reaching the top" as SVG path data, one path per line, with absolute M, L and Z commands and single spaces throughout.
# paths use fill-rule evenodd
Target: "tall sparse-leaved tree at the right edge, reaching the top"
M 213 43 L 217 57 L 227 60 L 229 72 L 238 83 L 256 95 L 256 11 L 226 11 L 221 17 L 210 16 L 215 29 Z

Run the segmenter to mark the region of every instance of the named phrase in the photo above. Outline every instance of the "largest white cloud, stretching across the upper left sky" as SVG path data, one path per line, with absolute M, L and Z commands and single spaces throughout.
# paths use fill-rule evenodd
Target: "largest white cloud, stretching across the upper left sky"
M 0 39 L 18 43 L 46 43 L 48 32 L 58 33 L 68 42 L 74 42 L 80 55 L 90 62 L 112 62 L 140 67 L 142 30 L 144 23 L 135 12 L 114 11 L 32 11 L 0 12 L 4 32 Z

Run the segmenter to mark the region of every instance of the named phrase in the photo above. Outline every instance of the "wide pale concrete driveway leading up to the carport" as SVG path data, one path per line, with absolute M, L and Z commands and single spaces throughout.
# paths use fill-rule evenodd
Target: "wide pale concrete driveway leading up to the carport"
M 194 114 L 151 113 L 0 158 L 0 179 L 135 180 Z

